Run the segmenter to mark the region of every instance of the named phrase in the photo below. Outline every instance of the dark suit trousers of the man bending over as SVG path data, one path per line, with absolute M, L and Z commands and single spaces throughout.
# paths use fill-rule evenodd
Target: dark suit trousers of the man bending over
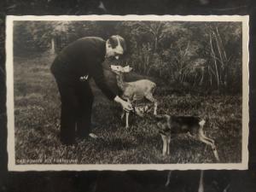
M 75 137 L 88 137 L 94 96 L 89 82 L 70 84 L 58 79 L 56 83 L 61 95 L 61 143 L 72 144 Z

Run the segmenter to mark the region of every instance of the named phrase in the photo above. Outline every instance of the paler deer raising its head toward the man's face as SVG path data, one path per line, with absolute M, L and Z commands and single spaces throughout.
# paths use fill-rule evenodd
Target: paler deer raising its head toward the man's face
M 154 99 L 154 90 L 156 84 L 148 79 L 141 79 L 133 82 L 125 82 L 124 73 L 130 73 L 132 67 L 126 66 L 113 66 L 111 65 L 111 70 L 116 74 L 117 84 L 119 89 L 122 90 L 122 98 L 127 102 L 136 102 L 146 98 L 149 102 L 154 103 L 154 115 L 157 114 L 157 101 Z M 135 108 L 135 112 L 137 112 Z M 125 128 L 129 127 L 129 113 L 123 112 L 121 118 L 125 115 Z

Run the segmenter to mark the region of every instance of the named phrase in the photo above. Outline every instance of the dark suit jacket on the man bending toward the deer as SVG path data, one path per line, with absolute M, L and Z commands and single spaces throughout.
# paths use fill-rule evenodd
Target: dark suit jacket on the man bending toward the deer
M 51 72 L 55 79 L 66 84 L 76 84 L 81 76 L 89 75 L 102 92 L 113 100 L 116 94 L 106 84 L 102 69 L 105 54 L 106 42 L 102 38 L 79 38 L 61 50 L 51 66 Z

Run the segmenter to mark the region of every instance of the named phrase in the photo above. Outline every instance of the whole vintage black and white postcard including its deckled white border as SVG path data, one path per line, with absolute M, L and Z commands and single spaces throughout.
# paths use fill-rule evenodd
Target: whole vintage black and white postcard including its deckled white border
M 247 169 L 248 16 L 8 16 L 10 171 Z

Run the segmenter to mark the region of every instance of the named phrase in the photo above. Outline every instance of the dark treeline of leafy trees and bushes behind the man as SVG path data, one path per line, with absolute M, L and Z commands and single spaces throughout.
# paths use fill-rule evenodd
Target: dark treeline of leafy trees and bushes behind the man
M 86 37 L 125 38 L 120 61 L 166 84 L 241 92 L 241 22 L 15 21 L 15 55 L 57 53 Z

